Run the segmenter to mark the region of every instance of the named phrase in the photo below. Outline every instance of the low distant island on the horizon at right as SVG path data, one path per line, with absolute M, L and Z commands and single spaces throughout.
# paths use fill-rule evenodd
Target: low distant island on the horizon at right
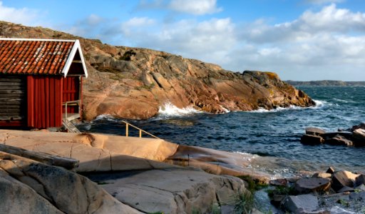
M 365 86 L 365 81 L 285 81 L 292 86 Z

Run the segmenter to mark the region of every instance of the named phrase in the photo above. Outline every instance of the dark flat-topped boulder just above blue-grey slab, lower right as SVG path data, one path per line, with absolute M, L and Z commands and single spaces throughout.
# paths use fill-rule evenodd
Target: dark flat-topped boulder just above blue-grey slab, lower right
M 298 193 L 325 192 L 331 187 L 329 178 L 302 178 L 295 183 Z

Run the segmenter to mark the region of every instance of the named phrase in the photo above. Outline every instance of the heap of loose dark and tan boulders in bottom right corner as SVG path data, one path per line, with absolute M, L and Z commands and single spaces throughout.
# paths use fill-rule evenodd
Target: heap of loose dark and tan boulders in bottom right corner
M 291 213 L 362 213 L 365 209 L 365 172 L 329 168 L 307 178 L 270 180 L 271 203 Z

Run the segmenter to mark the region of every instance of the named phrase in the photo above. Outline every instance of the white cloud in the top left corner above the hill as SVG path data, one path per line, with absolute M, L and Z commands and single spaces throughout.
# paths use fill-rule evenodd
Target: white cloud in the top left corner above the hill
M 0 1 L 0 20 L 35 26 L 39 24 L 37 21 L 39 16 L 41 16 L 40 12 L 34 9 L 7 7 Z

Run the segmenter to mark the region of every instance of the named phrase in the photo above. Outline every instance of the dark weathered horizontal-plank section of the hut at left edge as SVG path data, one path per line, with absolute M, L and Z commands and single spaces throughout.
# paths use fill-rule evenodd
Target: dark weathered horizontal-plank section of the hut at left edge
M 26 121 L 26 78 L 0 76 L 0 126 L 21 126 Z

